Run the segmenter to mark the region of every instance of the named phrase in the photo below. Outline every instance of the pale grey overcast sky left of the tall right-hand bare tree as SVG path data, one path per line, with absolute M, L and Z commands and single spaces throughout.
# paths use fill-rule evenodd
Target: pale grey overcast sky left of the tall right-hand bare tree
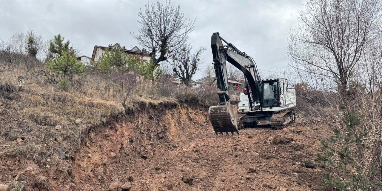
M 139 28 L 139 6 L 156 0 L 0 0 L 0 39 L 32 28 L 45 40 L 61 34 L 73 38 L 81 55 L 91 57 L 94 45 L 120 43 L 131 49 L 137 41 L 130 31 Z M 160 0 L 165 3 L 165 0 Z M 195 18 L 189 35 L 194 49 L 207 46 L 201 71 L 212 63 L 211 35 L 220 32 L 228 42 L 253 57 L 261 73 L 288 65 L 290 27 L 296 26 L 305 0 L 180 0 L 185 16 Z M 172 0 L 176 6 L 178 1 Z M 138 46 L 139 47 L 139 46 Z M 139 47 L 142 48 L 142 47 Z

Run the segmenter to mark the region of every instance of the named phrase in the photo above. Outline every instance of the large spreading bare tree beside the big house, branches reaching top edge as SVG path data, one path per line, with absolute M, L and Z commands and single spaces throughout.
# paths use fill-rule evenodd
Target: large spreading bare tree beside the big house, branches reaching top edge
M 162 4 L 147 4 L 145 10 L 139 9 L 138 34 L 130 34 L 138 44 L 146 47 L 151 60 L 158 64 L 179 52 L 188 40 L 188 34 L 194 30 L 195 20 L 187 19 L 177 7 L 170 6 L 170 1 Z

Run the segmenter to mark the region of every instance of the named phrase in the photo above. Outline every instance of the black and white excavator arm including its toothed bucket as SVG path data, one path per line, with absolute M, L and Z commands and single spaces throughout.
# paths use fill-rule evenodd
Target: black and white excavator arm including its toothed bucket
M 223 45 L 225 42 L 227 45 Z M 213 54 L 213 65 L 216 73 L 217 87 L 219 89 L 219 105 L 209 108 L 210 121 L 214 127 L 214 131 L 238 133 L 237 129 L 237 108 L 236 105 L 229 103 L 228 79 L 226 61 L 243 72 L 246 81 L 251 88 L 252 94 L 249 93 L 249 87 L 246 85 L 249 106 L 253 110 L 253 103 L 258 102 L 262 107 L 261 96 L 262 86 L 256 63 L 245 52 L 241 52 L 231 43 L 220 37 L 219 32 L 215 32 L 211 37 L 211 49 Z

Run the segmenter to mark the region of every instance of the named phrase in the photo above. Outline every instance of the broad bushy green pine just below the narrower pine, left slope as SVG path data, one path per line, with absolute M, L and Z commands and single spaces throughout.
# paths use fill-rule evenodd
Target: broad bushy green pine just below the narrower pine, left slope
M 68 74 L 82 74 L 86 71 L 84 64 L 77 61 L 76 55 L 70 55 L 69 51 L 62 52 L 54 60 L 47 62 L 47 68 L 61 75 L 64 79 Z

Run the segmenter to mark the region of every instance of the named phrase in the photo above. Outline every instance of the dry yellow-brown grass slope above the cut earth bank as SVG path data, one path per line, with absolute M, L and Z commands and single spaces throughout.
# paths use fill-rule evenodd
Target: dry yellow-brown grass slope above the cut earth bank
M 153 82 L 134 73 L 95 70 L 73 76 L 63 91 L 47 83 L 43 71 L 45 66 L 33 59 L 0 58 L 0 157 L 60 163 L 74 157 L 94 128 L 137 108 L 174 107 L 179 102 L 208 107 L 218 100 L 212 89 L 177 88 L 168 79 Z M 25 79 L 22 86 L 18 76 Z M 83 123 L 76 124 L 76 119 Z M 55 129 L 57 125 L 61 128 Z

